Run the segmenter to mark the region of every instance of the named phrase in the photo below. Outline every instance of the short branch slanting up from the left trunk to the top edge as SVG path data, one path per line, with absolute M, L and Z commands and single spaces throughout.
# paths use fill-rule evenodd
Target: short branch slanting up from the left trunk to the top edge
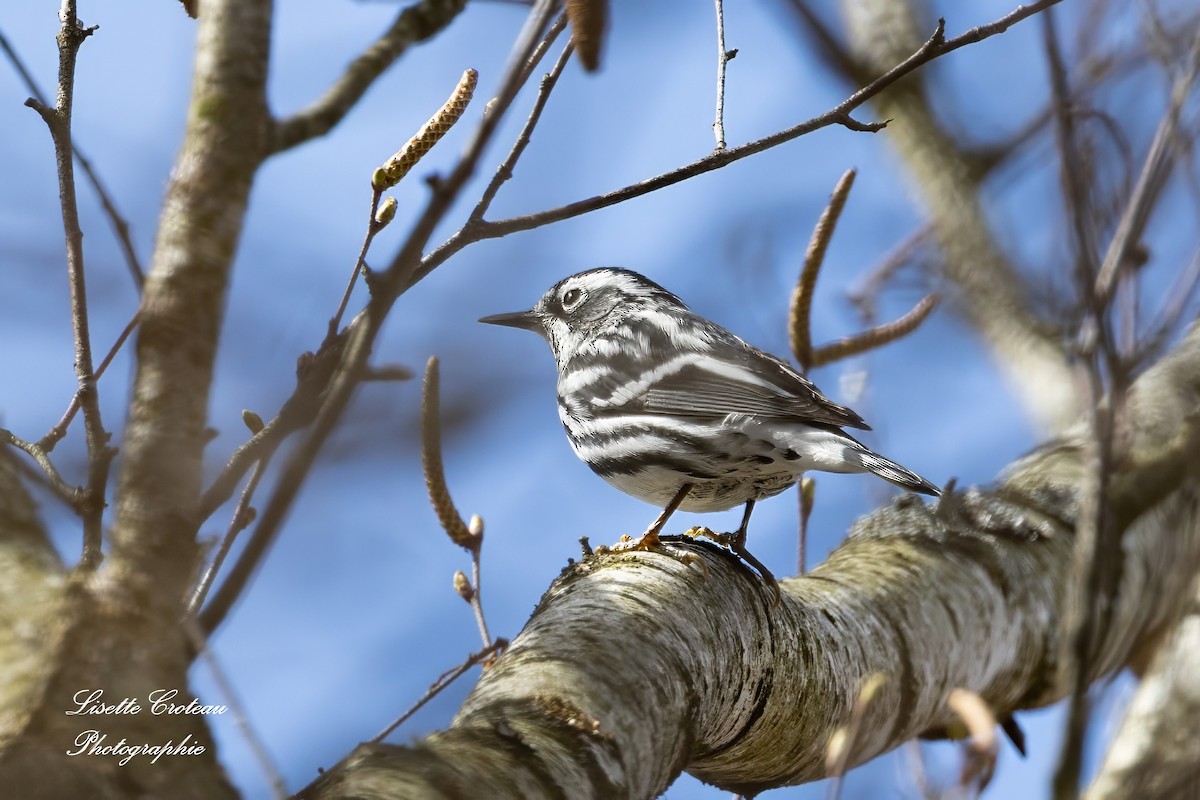
M 422 0 L 401 11 L 391 26 L 350 62 L 319 100 L 275 122 L 270 151 L 288 150 L 329 133 L 409 46 L 442 31 L 466 5 L 466 0 Z

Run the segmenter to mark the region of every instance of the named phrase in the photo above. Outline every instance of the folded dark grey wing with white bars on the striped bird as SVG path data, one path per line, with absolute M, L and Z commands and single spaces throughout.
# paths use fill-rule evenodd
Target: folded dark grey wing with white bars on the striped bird
M 678 368 L 665 365 L 652 371 L 624 407 L 647 414 L 710 419 L 746 414 L 870 429 L 858 414 L 824 397 L 782 361 L 745 347 L 745 351 L 731 349 L 712 356 L 694 354 L 679 359 Z

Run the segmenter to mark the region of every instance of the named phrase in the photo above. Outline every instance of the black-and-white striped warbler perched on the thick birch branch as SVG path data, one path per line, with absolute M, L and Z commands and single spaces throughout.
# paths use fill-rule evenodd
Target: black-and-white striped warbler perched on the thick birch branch
M 846 433 L 870 429 L 858 414 L 632 270 L 571 275 L 533 308 L 479 321 L 533 331 L 550 344 L 558 415 L 575 455 L 616 488 L 662 509 L 636 549 L 656 549 L 677 510 L 742 505 L 737 531 L 702 531 L 757 569 L 776 602 L 774 576 L 745 547 L 758 500 L 809 470 L 874 473 L 940 494 Z

